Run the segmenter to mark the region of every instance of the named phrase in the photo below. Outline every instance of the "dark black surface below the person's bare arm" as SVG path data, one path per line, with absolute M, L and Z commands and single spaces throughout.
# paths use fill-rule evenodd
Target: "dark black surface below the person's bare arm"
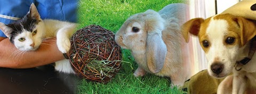
M 52 65 L 0 68 L 0 93 L 76 93 L 79 80 L 74 74 L 55 71 Z

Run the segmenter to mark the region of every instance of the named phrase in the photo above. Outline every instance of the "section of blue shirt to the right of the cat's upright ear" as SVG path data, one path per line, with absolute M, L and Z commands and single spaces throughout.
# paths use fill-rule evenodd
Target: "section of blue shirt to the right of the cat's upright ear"
M 35 5 L 42 19 L 76 22 L 77 0 L 38 0 Z

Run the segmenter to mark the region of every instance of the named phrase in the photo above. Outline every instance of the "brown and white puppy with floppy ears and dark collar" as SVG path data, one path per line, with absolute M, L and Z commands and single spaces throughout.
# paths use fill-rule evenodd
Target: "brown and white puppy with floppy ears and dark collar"
M 198 36 L 211 76 L 222 78 L 234 73 L 227 78 L 233 80 L 229 90 L 225 85 L 230 81 L 225 79 L 218 93 L 244 93 L 248 88 L 256 89 L 256 55 L 240 71 L 234 69 L 236 61 L 248 57 L 250 41 L 256 35 L 255 23 L 243 17 L 219 14 L 206 20 L 194 18 L 186 22 L 182 25 L 182 34 L 187 42 L 189 33 Z

